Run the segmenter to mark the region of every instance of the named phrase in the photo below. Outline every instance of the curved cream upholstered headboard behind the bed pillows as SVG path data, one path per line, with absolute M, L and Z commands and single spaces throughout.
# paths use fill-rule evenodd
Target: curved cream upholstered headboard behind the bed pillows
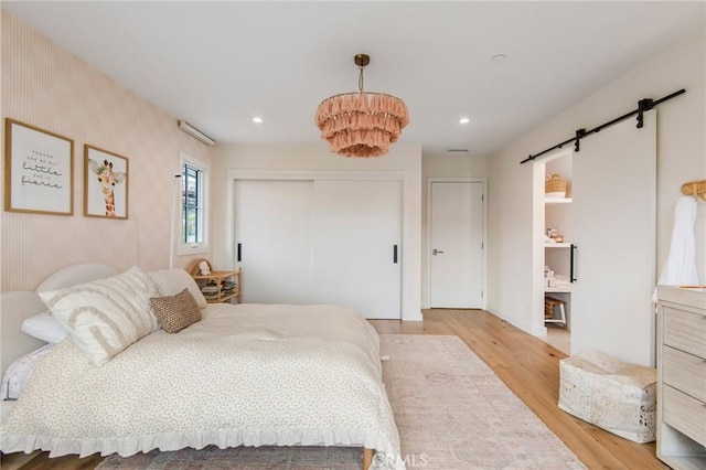
M 101 263 L 68 265 L 50 275 L 35 291 L 0 293 L 0 376 L 14 360 L 46 344 L 20 330 L 24 319 L 49 310 L 36 292 L 76 286 L 117 274 L 116 268 Z

